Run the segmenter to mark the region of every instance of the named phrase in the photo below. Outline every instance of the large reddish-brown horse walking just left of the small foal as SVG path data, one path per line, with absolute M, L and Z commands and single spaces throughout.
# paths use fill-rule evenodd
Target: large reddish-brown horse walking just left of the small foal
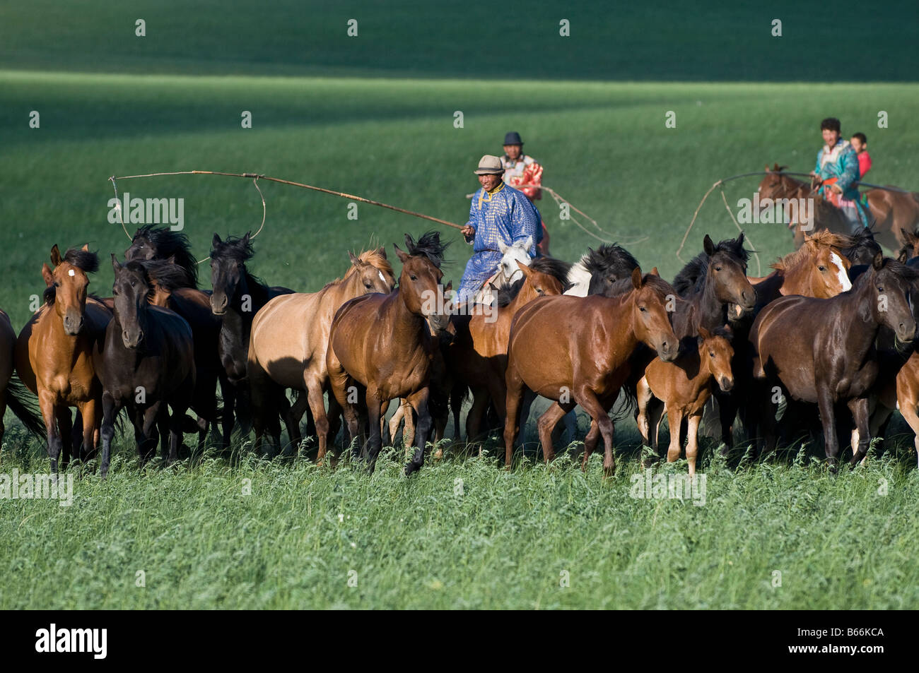
M 505 376 L 508 467 L 519 432 L 520 402 L 528 387 L 555 400 L 539 417 L 545 459 L 554 456 L 551 431 L 555 424 L 579 404 L 594 421 L 584 441 L 584 467 L 602 434 L 604 470 L 612 473 L 613 421 L 607 411 L 629 376 L 631 354 L 641 342 L 665 362 L 673 360 L 679 351 L 667 310 L 676 296 L 674 287 L 657 275 L 642 276 L 639 268 L 618 284 L 631 286 L 616 297 L 538 297 L 517 311 L 511 324 Z

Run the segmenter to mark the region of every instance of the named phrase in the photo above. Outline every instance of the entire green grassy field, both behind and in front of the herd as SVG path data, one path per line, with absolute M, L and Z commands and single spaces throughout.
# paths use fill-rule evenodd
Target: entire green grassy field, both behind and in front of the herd
M 344 35 L 357 6 L 307 22 L 289 4 L 257 16 L 225 5 L 213 4 L 220 21 L 209 30 L 169 3 L 0 8 L 0 308 L 17 329 L 43 289 L 53 243 L 88 241 L 103 258 L 91 289 L 110 293 L 108 252 L 128 245 L 107 219 L 112 174 L 258 172 L 462 223 L 476 161 L 514 129 L 545 164 L 546 185 L 667 278 L 682 265 L 675 250 L 709 186 L 766 163 L 810 170 L 823 117 L 868 135 L 871 181 L 919 188 L 908 22 L 864 17 L 860 57 L 823 77 L 809 44 L 833 31 L 816 20 L 818 8 L 792 17 L 790 4 L 768 16 L 703 11 L 682 23 L 667 6 L 656 21 L 638 10 L 604 21 L 579 10 L 570 50 L 537 40 L 536 67 L 504 69 L 482 53 L 502 48 L 506 26 L 480 26 L 472 9 L 445 9 L 454 14 L 432 23 L 425 6 L 397 6 L 404 19 L 389 5 L 360 8 L 360 47 L 346 47 L 330 31 L 340 24 Z M 519 15 L 520 29 L 535 34 L 548 21 L 557 35 L 560 11 L 539 4 Z M 744 32 L 767 35 L 774 13 L 789 16 L 782 49 Z M 148 17 L 148 42 L 132 37 L 136 17 Z M 621 37 L 610 44 L 612 23 Z M 32 110 L 39 129 L 28 126 Z M 244 110 L 252 129 L 241 128 Z M 675 129 L 664 126 L 670 110 Z M 878 129 L 880 110 L 888 129 Z M 755 183 L 729 184 L 729 203 L 752 196 Z M 267 221 L 252 268 L 273 285 L 318 289 L 346 270 L 348 249 L 391 251 L 404 232 L 425 229 L 380 208 L 361 206 L 350 220 L 346 200 L 262 189 Z M 202 258 L 215 231 L 242 234 L 261 220 L 244 180 L 119 181 L 124 191 L 184 198 Z M 685 259 L 704 233 L 737 233 L 713 196 Z M 573 260 L 598 242 L 560 220 L 551 200 L 540 208 L 557 256 Z M 777 225 L 747 232 L 764 271 L 791 249 Z M 446 277 L 456 283 L 470 248 L 454 230 L 444 236 Z M 108 483 L 75 479 L 71 507 L 0 499 L 0 608 L 915 608 L 919 472 L 904 428 L 894 425 L 880 457 L 836 477 L 811 460 L 812 447 L 735 470 L 707 445 L 701 506 L 630 497 L 640 447 L 628 423 L 607 481 L 596 458 L 586 474 L 573 456 L 508 474 L 450 449 L 411 480 L 392 452 L 372 477 L 347 461 L 330 469 L 251 455 L 241 465 L 209 457 L 142 474 L 121 441 Z M 0 460 L 4 474 L 48 469 L 17 427 Z

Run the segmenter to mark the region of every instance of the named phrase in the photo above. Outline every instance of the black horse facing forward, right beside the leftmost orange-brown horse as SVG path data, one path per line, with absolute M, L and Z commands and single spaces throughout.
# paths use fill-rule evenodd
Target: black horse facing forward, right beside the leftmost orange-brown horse
M 115 418 L 122 407 L 134 425 L 141 463 L 153 456 L 157 422 L 168 424 L 167 461 L 175 461 L 195 388 L 195 348 L 188 323 L 168 308 L 151 305 L 153 283 L 141 263 L 121 265 L 113 254 L 112 269 L 115 314 L 105 341 L 93 354 L 103 388 L 103 478 L 108 475 Z

